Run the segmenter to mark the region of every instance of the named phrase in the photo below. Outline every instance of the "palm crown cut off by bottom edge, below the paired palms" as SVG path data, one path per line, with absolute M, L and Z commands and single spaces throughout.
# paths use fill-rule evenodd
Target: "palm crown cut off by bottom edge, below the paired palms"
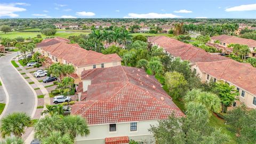
M 68 133 L 62 134 L 58 131 L 53 131 L 49 136 L 41 139 L 42 144 L 73 144 L 74 141 L 70 138 Z

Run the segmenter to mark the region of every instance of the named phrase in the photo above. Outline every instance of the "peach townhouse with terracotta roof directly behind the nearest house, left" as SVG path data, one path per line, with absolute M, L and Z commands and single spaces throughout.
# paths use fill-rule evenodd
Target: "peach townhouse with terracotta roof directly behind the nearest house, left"
M 122 61 L 117 54 L 102 54 L 91 50 L 87 51 L 78 44 L 68 44 L 66 42 L 43 47 L 40 53 L 43 57 L 46 57 L 43 63 L 43 66 L 46 68 L 56 62 L 72 65 L 75 72 L 70 77 L 74 78 L 75 84 L 81 82 L 81 73 L 83 70 L 118 66 L 121 65 Z

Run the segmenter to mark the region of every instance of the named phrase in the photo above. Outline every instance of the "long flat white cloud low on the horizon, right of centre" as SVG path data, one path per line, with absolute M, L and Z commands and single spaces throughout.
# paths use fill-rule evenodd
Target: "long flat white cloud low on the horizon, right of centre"
M 145 13 L 145 14 L 138 14 L 138 13 L 128 13 L 128 16 L 124 18 L 181 18 L 178 15 L 174 15 L 171 13 Z

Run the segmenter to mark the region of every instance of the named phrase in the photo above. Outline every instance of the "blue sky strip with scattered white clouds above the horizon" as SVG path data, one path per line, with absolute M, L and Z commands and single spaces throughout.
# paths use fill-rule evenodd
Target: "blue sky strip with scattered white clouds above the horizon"
M 0 18 L 256 19 L 256 0 L 0 0 Z

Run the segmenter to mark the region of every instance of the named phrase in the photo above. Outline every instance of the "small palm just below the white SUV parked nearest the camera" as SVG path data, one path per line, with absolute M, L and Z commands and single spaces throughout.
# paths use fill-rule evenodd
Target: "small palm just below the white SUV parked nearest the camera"
M 46 110 L 41 112 L 41 115 L 50 114 L 53 116 L 54 114 L 63 115 L 63 106 L 62 105 L 46 105 Z

